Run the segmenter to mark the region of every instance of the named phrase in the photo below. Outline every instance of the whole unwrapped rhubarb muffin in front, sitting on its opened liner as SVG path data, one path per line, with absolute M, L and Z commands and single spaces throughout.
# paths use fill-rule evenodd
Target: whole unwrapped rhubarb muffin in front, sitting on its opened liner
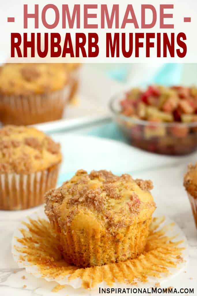
M 66 260 L 89 267 L 135 258 L 143 252 L 155 210 L 152 181 L 78 170 L 46 194 L 45 213 Z

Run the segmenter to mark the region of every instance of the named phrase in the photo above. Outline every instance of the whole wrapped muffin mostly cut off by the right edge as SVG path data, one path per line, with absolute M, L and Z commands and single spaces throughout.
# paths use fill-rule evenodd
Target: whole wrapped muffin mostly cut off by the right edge
M 195 165 L 188 165 L 188 171 L 184 176 L 184 186 L 191 203 L 191 209 L 197 227 L 197 163 Z

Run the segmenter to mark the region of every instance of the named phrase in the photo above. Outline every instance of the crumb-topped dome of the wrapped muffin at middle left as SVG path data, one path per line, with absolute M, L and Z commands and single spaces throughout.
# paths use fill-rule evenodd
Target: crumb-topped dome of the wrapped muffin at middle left
M 25 126 L 0 129 L 0 173 L 34 173 L 60 161 L 60 144 L 43 132 Z

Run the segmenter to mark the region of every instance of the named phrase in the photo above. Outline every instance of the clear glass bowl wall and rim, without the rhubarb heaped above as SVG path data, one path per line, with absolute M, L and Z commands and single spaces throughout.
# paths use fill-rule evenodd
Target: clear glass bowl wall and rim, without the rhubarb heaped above
M 132 146 L 166 155 L 184 155 L 197 149 L 197 122 L 153 122 L 122 115 L 124 95 L 125 91 L 112 97 L 110 110 Z

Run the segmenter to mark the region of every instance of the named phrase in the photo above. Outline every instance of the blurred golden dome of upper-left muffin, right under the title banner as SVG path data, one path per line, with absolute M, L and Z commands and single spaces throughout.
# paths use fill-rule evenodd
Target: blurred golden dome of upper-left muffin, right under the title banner
M 0 67 L 0 94 L 30 95 L 62 89 L 68 82 L 64 64 L 5 64 Z

